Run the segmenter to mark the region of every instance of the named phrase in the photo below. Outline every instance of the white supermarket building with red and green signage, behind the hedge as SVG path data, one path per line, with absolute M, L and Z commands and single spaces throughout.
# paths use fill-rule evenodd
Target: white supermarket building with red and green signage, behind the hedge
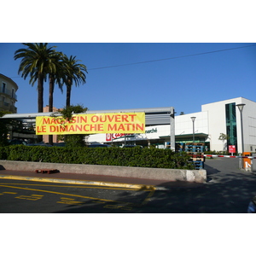
M 256 151 L 256 102 L 242 97 L 222 102 L 212 102 L 201 106 L 201 112 L 175 116 L 175 142 L 193 142 L 193 122 L 195 117 L 195 143 L 206 143 L 207 148 L 216 151 L 236 146 L 236 152 L 241 153 L 241 113 L 238 104 L 245 104 L 242 110 L 244 151 Z M 128 112 L 131 109 L 124 109 Z M 108 110 L 106 110 L 106 113 Z M 146 124 L 147 125 L 147 124 Z M 145 134 L 96 134 L 88 138 L 89 143 L 114 143 L 118 145 L 156 145 L 166 148 L 170 142 L 170 125 L 147 125 Z M 227 141 L 219 140 L 221 133 L 229 136 Z

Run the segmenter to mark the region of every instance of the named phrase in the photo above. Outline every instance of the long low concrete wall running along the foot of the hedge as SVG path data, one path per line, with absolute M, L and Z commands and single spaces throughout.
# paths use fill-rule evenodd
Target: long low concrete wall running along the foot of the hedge
M 96 166 L 0 160 L 0 170 L 35 172 L 36 169 L 40 168 L 57 169 L 60 172 L 66 173 L 84 173 L 116 177 L 136 177 L 166 181 L 187 181 L 195 183 L 205 183 L 207 181 L 206 170 L 180 170 L 129 166 Z

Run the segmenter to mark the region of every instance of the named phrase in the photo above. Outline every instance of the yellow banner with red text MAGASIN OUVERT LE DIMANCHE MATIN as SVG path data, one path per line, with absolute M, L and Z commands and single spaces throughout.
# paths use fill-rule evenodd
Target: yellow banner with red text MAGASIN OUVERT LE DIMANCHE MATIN
M 38 116 L 36 134 L 145 133 L 145 113 L 74 114 L 62 117 Z

